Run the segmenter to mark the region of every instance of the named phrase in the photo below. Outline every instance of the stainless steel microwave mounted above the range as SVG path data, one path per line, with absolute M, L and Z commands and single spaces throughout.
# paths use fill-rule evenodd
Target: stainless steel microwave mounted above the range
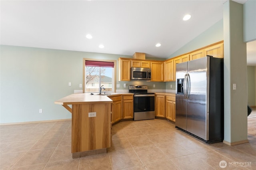
M 131 67 L 131 79 L 132 80 L 150 80 L 151 79 L 151 69 L 150 68 Z

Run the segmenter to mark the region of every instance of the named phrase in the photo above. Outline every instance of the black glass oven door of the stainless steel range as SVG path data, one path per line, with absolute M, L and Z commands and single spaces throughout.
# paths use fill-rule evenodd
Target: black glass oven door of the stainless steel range
M 134 112 L 155 111 L 155 97 L 134 97 Z

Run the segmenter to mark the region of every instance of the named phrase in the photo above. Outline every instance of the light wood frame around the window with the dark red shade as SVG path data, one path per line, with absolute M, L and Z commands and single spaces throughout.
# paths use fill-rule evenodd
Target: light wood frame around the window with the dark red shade
M 83 93 L 90 93 L 90 92 L 85 92 L 85 61 L 90 60 L 90 61 L 106 61 L 106 62 L 114 62 L 114 73 L 113 73 L 113 92 L 116 93 L 116 60 L 106 60 L 106 59 L 91 59 L 91 58 L 84 58 L 83 59 Z

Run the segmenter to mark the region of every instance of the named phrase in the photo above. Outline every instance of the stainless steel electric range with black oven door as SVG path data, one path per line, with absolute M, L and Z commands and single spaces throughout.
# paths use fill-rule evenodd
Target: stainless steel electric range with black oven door
M 134 121 L 155 119 L 155 93 L 148 93 L 147 85 L 129 85 L 134 93 Z

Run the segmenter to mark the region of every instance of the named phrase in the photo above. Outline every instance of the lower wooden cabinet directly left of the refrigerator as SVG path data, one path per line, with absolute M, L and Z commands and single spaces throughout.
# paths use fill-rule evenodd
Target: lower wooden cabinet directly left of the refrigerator
M 175 109 L 176 109 L 175 96 L 166 96 L 166 101 L 165 101 L 166 119 L 169 119 L 170 121 L 175 122 Z

